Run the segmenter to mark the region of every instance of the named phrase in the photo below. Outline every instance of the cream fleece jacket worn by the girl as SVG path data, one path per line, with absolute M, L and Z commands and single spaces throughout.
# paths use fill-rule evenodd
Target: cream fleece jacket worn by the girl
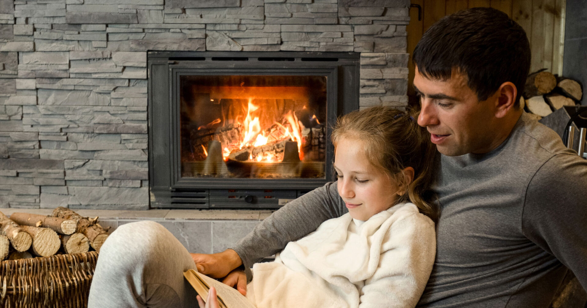
M 247 297 L 258 308 L 415 307 L 435 252 L 434 223 L 414 204 L 359 225 L 347 213 L 256 263 Z

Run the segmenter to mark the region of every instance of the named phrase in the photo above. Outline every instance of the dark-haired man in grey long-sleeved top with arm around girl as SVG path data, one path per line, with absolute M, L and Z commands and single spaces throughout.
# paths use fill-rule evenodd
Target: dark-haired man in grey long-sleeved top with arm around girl
M 431 26 L 413 59 L 418 123 L 442 154 L 437 256 L 419 307 L 548 307 L 567 268 L 586 287 L 587 162 L 519 106 L 530 62 L 524 30 L 495 9 L 468 9 Z M 222 277 L 347 211 L 329 183 L 232 249 L 193 259 Z M 238 270 L 225 283 L 246 292 Z

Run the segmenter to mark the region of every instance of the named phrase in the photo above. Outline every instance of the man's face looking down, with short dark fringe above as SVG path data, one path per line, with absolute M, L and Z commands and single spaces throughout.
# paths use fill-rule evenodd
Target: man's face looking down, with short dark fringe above
M 453 70 L 448 80 L 427 79 L 417 67 L 414 87 L 420 94 L 418 124 L 427 128 L 440 153 L 482 154 L 499 145 L 494 130 L 497 93 L 479 101 L 463 73 Z

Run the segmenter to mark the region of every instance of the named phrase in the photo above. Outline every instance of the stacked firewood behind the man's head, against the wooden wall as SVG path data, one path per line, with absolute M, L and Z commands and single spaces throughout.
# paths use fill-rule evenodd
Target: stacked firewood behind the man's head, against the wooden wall
M 527 112 L 541 119 L 563 106 L 576 106 L 582 97 L 580 83 L 542 69 L 528 75 L 520 103 Z

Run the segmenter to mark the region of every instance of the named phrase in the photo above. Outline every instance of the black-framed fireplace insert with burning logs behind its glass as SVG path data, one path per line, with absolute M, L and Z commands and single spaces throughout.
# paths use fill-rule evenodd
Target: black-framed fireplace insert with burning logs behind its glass
M 153 208 L 278 208 L 332 180 L 357 53 L 149 52 Z

